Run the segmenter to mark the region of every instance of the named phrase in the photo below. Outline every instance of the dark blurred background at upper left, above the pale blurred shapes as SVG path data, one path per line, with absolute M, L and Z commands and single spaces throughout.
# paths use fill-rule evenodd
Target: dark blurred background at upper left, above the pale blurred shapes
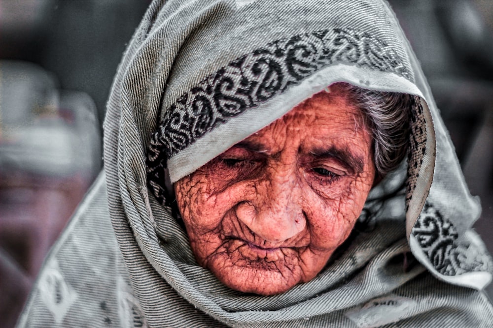
M 150 0 L 0 0 L 0 59 L 55 73 L 60 89 L 84 91 L 103 121 L 127 42 Z

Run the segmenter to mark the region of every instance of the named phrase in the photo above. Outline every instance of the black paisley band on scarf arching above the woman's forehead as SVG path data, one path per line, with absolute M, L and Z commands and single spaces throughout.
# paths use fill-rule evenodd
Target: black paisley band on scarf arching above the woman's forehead
M 169 108 L 147 154 L 151 187 L 162 199 L 166 160 L 218 124 L 257 107 L 333 63 L 394 72 L 411 79 L 403 59 L 385 42 L 358 30 L 333 29 L 283 38 L 233 60 L 182 94 Z

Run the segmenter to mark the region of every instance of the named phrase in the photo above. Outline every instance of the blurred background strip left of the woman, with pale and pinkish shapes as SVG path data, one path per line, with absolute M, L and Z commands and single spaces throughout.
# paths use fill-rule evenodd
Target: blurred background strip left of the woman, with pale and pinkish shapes
M 0 327 L 101 170 L 113 76 L 150 0 L 0 0 Z

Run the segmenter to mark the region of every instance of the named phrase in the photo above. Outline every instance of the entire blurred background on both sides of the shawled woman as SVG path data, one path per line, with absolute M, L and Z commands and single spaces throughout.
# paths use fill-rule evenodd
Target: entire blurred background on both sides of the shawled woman
M 493 251 L 493 1 L 390 0 Z M 0 327 L 101 170 L 106 98 L 150 0 L 0 0 Z M 493 296 L 493 286 L 488 288 Z

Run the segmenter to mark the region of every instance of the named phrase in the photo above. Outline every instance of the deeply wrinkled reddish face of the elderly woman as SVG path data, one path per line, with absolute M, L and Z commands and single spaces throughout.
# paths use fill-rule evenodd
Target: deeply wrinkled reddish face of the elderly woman
M 337 89 L 175 183 L 197 261 L 232 289 L 282 293 L 348 238 L 375 177 L 371 135 Z

